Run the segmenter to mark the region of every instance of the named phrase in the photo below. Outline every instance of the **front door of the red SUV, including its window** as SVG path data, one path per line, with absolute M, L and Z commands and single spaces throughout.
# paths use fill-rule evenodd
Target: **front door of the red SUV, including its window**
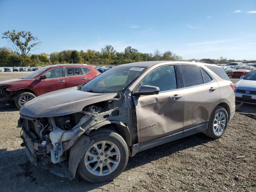
M 36 80 L 37 83 L 35 85 L 35 89 L 38 93 L 37 96 L 66 88 L 65 77 L 62 67 L 53 68 L 42 75 L 45 75 L 46 79 Z

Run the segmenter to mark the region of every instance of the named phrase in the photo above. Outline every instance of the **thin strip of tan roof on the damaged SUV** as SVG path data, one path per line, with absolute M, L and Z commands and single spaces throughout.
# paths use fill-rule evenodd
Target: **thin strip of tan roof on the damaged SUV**
M 197 66 L 215 66 L 220 67 L 214 64 L 207 64 L 207 63 L 200 63 L 200 62 L 188 62 L 188 61 L 145 61 L 145 62 L 134 62 L 134 63 L 128 63 L 128 64 L 122 64 L 119 66 L 138 66 L 138 67 L 152 67 L 157 64 L 192 64 Z M 118 66 L 116 66 L 118 67 Z

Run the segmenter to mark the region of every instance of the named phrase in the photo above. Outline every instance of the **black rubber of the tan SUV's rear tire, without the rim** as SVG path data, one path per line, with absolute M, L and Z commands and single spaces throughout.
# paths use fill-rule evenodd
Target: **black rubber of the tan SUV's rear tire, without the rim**
M 224 113 L 225 118 L 226 118 L 226 124 L 224 126 L 224 130 L 221 133 L 217 134 L 214 131 L 214 126 L 213 125 L 214 125 L 214 118 L 215 118 L 216 114 L 218 114 L 220 112 Z M 207 130 L 206 130 L 206 136 L 208 136 L 210 138 L 218 139 L 218 138 L 220 138 L 224 134 L 224 132 L 226 131 L 227 126 L 228 126 L 228 113 L 227 113 L 227 111 L 226 111 L 226 109 L 224 107 L 217 106 L 214 109 L 214 111 L 213 111 L 213 113 L 212 113 L 212 115 L 210 117 L 210 120 L 208 122 L 208 127 L 207 127 Z

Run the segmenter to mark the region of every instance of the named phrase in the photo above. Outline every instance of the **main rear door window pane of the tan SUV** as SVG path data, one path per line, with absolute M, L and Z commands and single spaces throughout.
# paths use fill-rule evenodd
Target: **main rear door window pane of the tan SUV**
M 184 87 L 204 84 L 200 67 L 192 65 L 180 65 Z

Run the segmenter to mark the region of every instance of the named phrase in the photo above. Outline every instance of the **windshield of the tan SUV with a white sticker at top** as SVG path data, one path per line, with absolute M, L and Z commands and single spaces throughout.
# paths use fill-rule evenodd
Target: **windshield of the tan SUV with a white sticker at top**
M 96 93 L 117 93 L 126 89 L 146 67 L 119 66 L 96 76 L 82 86 L 83 91 Z

